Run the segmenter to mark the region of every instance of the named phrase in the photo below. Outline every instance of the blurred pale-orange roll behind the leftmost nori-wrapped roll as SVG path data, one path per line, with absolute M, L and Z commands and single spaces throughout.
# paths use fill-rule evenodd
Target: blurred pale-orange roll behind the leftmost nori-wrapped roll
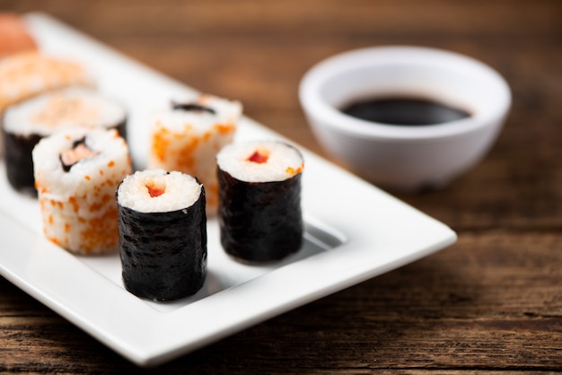
M 43 92 L 93 85 L 92 75 L 78 62 L 34 50 L 14 53 L 0 59 L 0 114 L 13 104 Z M 3 154 L 4 143 L 0 142 L 0 156 Z

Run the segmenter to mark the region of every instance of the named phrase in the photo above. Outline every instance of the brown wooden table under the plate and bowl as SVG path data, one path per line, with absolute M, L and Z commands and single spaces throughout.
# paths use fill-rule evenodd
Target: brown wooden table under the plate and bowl
M 448 249 L 138 369 L 0 278 L 0 371 L 545 373 L 562 369 L 562 3 L 558 0 L 0 0 L 43 11 L 326 156 L 297 87 L 324 57 L 446 48 L 505 76 L 495 147 L 443 190 L 397 195 L 457 231 Z

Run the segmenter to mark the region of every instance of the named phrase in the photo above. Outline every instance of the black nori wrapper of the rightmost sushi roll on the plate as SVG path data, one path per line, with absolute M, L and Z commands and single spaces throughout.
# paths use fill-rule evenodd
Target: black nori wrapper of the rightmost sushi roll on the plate
M 283 181 L 245 182 L 217 170 L 218 221 L 227 254 L 249 262 L 274 261 L 303 244 L 301 173 Z

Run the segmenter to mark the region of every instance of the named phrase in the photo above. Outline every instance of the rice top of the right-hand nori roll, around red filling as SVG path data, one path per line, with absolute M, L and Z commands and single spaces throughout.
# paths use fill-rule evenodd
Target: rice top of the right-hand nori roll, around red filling
M 267 155 L 266 162 L 250 161 L 253 153 Z M 224 146 L 217 153 L 218 167 L 235 179 L 269 182 L 290 179 L 303 170 L 303 156 L 289 144 L 277 141 L 252 141 Z

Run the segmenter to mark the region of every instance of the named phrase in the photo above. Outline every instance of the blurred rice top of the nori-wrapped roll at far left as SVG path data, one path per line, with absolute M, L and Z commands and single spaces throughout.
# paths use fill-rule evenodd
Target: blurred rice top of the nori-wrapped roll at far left
M 6 109 L 4 129 L 17 135 L 49 135 L 76 126 L 115 127 L 125 118 L 125 109 L 117 101 L 76 86 L 46 92 Z

